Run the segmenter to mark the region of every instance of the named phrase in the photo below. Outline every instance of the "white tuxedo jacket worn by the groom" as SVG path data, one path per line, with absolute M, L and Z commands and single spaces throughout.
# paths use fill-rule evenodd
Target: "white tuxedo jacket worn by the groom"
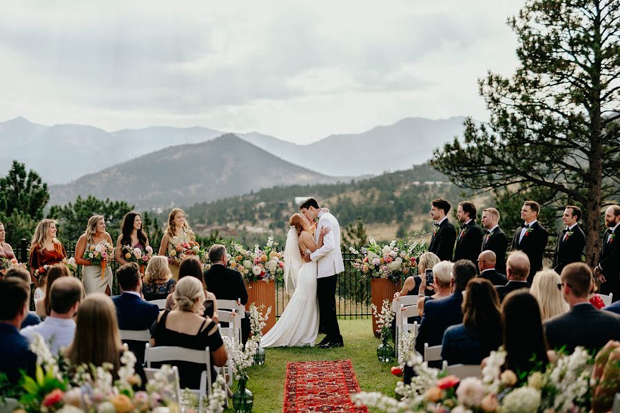
M 326 226 L 331 231 L 323 237 L 323 246 L 310 254 L 310 259 L 316 261 L 318 267 L 317 278 L 329 277 L 344 271 L 340 251 L 340 225 L 331 213 L 319 213 L 319 222 L 314 233 L 315 241 L 318 242 L 319 233 Z

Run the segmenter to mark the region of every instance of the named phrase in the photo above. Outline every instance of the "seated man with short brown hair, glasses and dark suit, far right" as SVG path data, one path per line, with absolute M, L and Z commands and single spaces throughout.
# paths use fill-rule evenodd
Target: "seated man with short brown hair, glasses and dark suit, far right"
M 610 340 L 620 340 L 620 316 L 599 311 L 588 301 L 592 270 L 586 264 L 573 262 L 564 267 L 560 284 L 564 301 L 570 311 L 545 322 L 550 348 L 566 347 L 572 352 L 577 346 L 598 351 Z

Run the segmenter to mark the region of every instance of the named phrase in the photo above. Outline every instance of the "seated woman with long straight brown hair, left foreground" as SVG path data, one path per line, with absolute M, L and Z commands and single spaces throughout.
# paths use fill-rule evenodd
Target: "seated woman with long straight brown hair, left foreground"
M 75 337 L 65 350 L 70 368 L 74 370 L 82 364 L 99 367 L 110 363 L 112 377 L 118 380 L 118 368 L 125 349 L 118 334 L 112 299 L 104 293 L 87 295 L 77 310 L 75 324 Z M 147 379 L 142 364 L 136 363 L 134 369 L 142 382 L 138 387 L 145 388 Z

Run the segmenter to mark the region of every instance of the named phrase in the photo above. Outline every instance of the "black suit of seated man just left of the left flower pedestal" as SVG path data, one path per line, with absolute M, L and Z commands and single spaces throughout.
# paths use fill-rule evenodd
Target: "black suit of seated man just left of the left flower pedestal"
M 239 271 L 220 264 L 213 264 L 205 271 L 205 285 L 207 291 L 213 293 L 216 299 L 238 299 L 240 304 L 244 306 L 247 304 L 247 289 Z M 220 324 L 223 327 L 228 326 L 227 323 Z M 244 345 L 247 343 L 249 333 L 249 312 L 246 311 L 245 317 L 241 319 L 241 341 Z

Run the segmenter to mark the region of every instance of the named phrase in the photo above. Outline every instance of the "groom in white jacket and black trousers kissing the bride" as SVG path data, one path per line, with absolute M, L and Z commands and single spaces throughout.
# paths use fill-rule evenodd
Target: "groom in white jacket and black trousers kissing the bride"
M 318 202 L 314 198 L 308 198 L 299 206 L 299 210 L 310 221 L 318 218 L 315 241 L 318 242 L 318 235 L 321 229 L 327 227 L 331 229 L 323 238 L 323 246 L 313 253 L 304 253 L 306 262 L 316 261 L 317 264 L 317 285 L 316 295 L 319 302 L 320 323 L 325 328 L 325 338 L 319 343 L 321 348 L 342 347 L 342 335 L 338 327 L 338 319 L 335 311 L 335 286 L 338 274 L 344 271 L 344 262 L 340 252 L 340 225 L 331 213 L 321 211 Z

